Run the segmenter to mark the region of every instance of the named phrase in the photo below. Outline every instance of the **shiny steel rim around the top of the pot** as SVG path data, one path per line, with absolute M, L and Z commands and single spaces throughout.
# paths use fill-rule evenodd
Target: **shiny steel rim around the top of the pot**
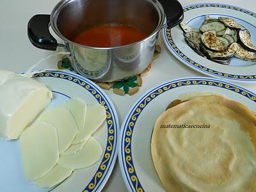
M 152 38 L 152 36 L 159 33 L 159 31 L 161 29 L 163 29 L 163 27 L 166 25 L 166 16 L 165 16 L 165 13 L 164 13 L 164 8 L 161 5 L 161 3 L 159 3 L 159 1 L 157 1 L 157 0 L 156 1 L 143 0 L 143 1 L 150 1 L 150 3 L 152 3 L 156 9 L 158 9 L 157 11 L 159 11 L 159 13 L 161 13 L 161 15 L 160 14 L 158 15 L 159 22 L 158 22 L 158 25 L 157 25 L 156 29 L 154 29 L 154 31 L 152 31 L 152 33 L 150 33 L 150 35 L 148 35 L 146 38 L 143 38 L 142 40 L 140 40 L 138 42 L 134 42 L 132 44 L 116 46 L 116 47 L 91 47 L 91 46 L 87 46 L 87 45 L 81 45 L 81 44 L 77 44 L 75 42 L 72 42 L 71 40 L 68 40 L 68 38 L 66 38 L 64 35 L 62 35 L 60 33 L 60 31 L 58 30 L 58 28 L 56 26 L 56 21 L 57 21 L 56 17 L 58 17 L 58 14 L 62 10 L 62 8 L 64 8 L 66 6 L 66 4 L 70 3 L 70 1 L 74 1 L 74 0 L 61 0 L 58 4 L 56 4 L 56 6 L 54 6 L 54 8 L 52 10 L 52 13 L 51 13 L 51 18 L 50 18 L 51 28 L 53 29 L 54 33 L 56 33 L 56 35 L 58 35 L 62 40 L 64 40 L 64 42 L 67 42 L 68 44 L 77 45 L 79 47 L 84 47 L 84 48 L 87 48 L 87 49 L 112 50 L 112 49 L 122 49 L 122 48 L 125 48 L 125 47 L 138 45 L 138 44 L 141 44 L 142 42 L 147 41 L 148 39 Z

